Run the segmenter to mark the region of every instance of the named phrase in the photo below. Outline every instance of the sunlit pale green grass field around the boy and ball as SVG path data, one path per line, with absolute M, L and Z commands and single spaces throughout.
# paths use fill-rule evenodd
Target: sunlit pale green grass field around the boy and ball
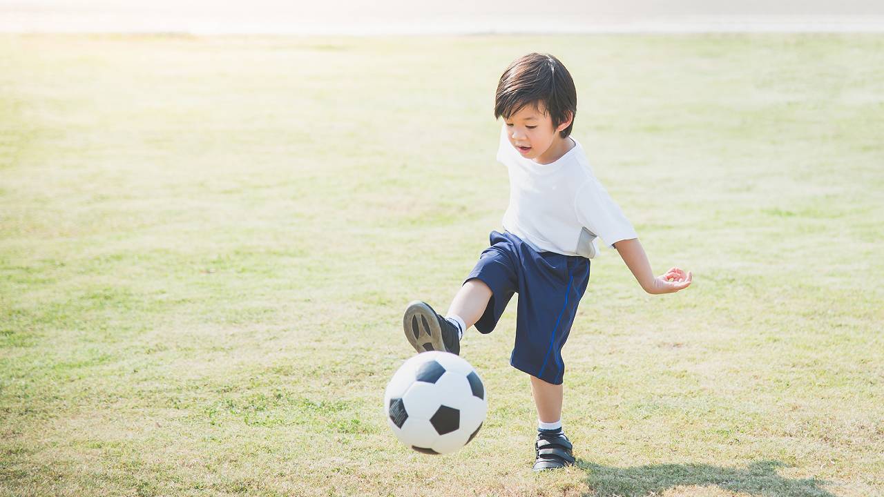
M 507 205 L 529 51 L 636 226 L 564 349 L 578 465 L 535 475 L 514 303 L 431 457 L 382 396 Z M 884 495 L 884 37 L 0 37 L 0 494 Z

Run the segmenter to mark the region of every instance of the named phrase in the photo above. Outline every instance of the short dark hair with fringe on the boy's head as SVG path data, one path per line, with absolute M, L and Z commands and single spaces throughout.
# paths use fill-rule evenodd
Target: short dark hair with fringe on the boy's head
M 571 73 L 552 55 L 530 53 L 515 59 L 500 76 L 494 119 L 509 119 L 525 105 L 537 103 L 543 103 L 553 127 L 571 117 L 571 124 L 560 132 L 562 138 L 567 138 L 577 113 L 577 90 Z

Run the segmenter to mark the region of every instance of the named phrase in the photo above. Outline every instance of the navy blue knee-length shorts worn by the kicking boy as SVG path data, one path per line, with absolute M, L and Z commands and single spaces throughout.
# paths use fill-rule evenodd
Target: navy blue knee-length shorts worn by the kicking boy
M 520 371 L 560 385 L 565 374 L 561 348 L 568 340 L 590 280 L 590 260 L 537 252 L 513 233 L 492 231 L 464 283 L 480 279 L 492 298 L 476 322 L 480 333 L 492 333 L 514 293 L 519 294 L 515 345 L 509 363 Z

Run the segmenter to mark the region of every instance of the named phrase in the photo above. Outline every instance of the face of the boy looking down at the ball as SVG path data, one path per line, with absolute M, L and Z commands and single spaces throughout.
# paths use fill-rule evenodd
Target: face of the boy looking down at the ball
M 543 103 L 525 105 L 515 112 L 507 123 L 507 136 L 510 144 L 522 157 L 538 164 L 549 164 L 568 150 L 567 139 L 559 132 L 571 124 L 571 120 L 552 126 L 552 118 L 546 113 Z

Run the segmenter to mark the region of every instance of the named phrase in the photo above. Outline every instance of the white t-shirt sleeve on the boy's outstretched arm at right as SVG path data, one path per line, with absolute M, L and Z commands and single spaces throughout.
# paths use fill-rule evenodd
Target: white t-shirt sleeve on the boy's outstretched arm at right
M 575 198 L 577 220 L 593 234 L 601 237 L 608 247 L 621 240 L 638 238 L 636 230 L 613 202 L 605 187 L 591 178 L 577 188 Z

